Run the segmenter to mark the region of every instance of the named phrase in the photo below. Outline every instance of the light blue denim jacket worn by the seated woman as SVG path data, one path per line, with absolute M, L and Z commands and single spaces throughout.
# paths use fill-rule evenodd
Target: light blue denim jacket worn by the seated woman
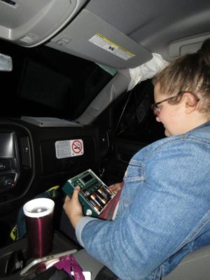
M 210 244 L 210 123 L 142 148 L 114 221 L 84 217 L 80 244 L 123 280 L 158 280 Z

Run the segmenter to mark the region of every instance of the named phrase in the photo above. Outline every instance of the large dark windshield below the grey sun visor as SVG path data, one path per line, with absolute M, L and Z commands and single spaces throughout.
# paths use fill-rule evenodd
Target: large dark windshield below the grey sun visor
M 74 120 L 113 78 L 94 62 L 46 46 L 23 48 L 0 41 L 13 59 L 12 72 L 0 72 L 1 117 L 42 116 Z

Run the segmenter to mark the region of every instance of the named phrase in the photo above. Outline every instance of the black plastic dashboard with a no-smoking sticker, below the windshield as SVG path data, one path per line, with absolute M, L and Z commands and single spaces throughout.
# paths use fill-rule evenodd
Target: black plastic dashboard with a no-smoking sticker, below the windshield
M 83 153 L 57 156 L 57 143 L 77 139 L 83 142 Z M 20 119 L 0 120 L 0 215 L 85 169 L 98 172 L 100 148 L 96 127 L 39 127 Z

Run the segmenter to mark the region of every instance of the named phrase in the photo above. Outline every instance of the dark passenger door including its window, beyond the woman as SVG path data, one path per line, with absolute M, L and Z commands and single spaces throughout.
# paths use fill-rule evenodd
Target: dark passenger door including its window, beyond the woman
M 165 137 L 162 124 L 155 120 L 151 103 L 153 84 L 146 80 L 122 94 L 104 113 L 101 124 L 110 132 L 110 141 L 102 170 L 108 185 L 123 180 L 127 165 L 137 151 Z

